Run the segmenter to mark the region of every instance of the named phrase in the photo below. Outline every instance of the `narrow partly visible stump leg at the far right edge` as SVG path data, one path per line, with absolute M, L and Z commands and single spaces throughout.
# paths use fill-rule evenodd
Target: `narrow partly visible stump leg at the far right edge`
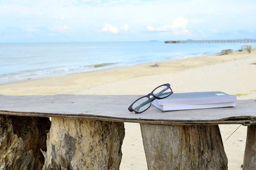
M 247 127 L 243 169 L 256 169 L 256 125 Z

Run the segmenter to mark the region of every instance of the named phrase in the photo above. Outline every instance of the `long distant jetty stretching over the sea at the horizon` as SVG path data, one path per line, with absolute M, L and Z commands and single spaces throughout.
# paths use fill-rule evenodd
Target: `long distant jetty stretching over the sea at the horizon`
M 164 41 L 164 43 L 256 43 L 256 39 L 216 39 L 216 40 L 187 40 Z

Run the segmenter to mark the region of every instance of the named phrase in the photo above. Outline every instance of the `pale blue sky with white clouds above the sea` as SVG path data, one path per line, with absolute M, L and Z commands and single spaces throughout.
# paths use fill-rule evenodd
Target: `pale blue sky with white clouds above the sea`
M 256 39 L 255 0 L 0 0 L 0 43 Z

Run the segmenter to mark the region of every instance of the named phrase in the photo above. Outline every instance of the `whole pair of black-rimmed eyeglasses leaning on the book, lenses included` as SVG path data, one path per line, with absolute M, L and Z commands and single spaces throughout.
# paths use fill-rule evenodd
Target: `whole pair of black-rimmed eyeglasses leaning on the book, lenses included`
M 152 101 L 156 99 L 164 99 L 171 94 L 173 94 L 173 91 L 169 83 L 159 85 L 159 87 L 154 89 L 150 94 L 140 97 L 134 101 L 134 103 L 129 106 L 128 110 L 131 112 L 135 111 L 135 113 L 142 113 L 150 108 Z

